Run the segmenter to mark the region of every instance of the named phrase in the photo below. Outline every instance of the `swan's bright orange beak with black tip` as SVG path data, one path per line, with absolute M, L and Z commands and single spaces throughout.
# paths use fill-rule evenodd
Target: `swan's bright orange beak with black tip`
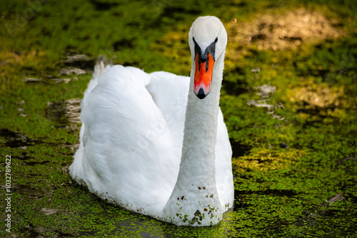
M 195 63 L 196 70 L 193 93 L 196 94 L 197 98 L 203 99 L 206 98 L 211 91 L 214 59 L 211 56 L 211 53 L 208 53 L 207 58 L 203 59 L 197 53 Z

